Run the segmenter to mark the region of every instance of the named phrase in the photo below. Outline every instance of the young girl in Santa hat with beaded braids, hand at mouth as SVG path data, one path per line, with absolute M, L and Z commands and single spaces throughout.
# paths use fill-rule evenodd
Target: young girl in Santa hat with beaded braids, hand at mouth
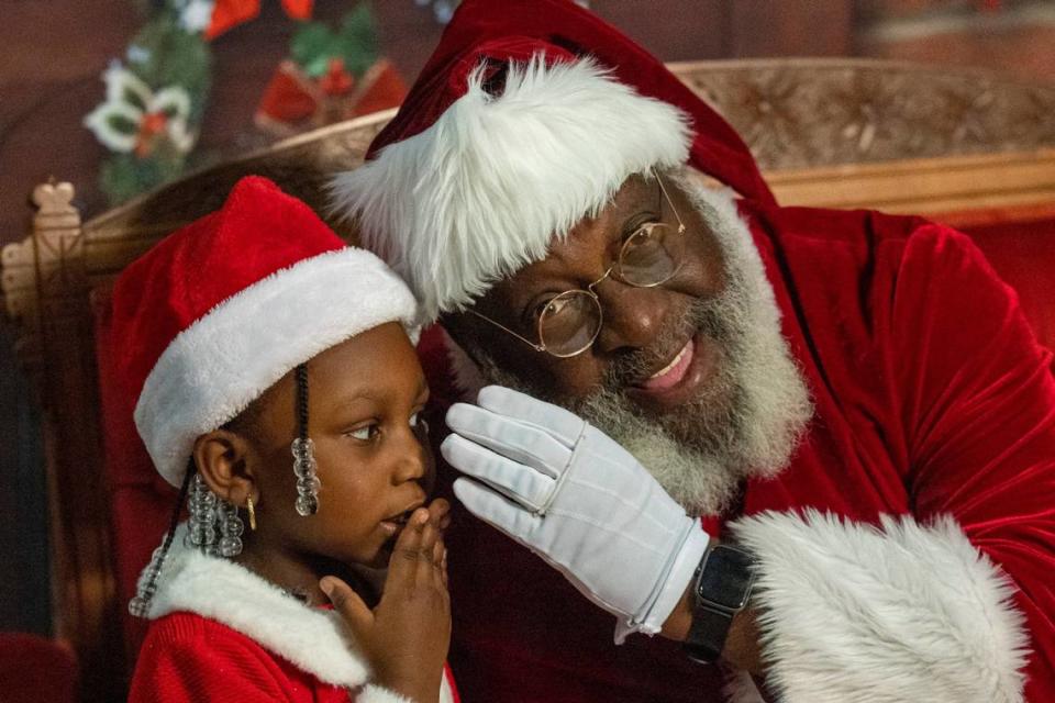
M 132 701 L 455 700 L 414 316 L 263 178 L 121 276 L 121 372 L 180 489 L 130 604 L 151 620 Z

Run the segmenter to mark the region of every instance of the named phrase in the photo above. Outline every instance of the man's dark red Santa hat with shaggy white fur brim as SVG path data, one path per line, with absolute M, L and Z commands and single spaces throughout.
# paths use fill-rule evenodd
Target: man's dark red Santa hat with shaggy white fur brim
M 431 321 L 544 258 L 628 177 L 686 163 L 773 202 L 732 127 L 589 11 L 466 0 L 332 203 Z

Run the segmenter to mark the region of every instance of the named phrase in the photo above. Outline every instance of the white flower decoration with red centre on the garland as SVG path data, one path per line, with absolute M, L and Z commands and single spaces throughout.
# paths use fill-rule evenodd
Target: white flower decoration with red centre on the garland
M 114 62 L 102 74 L 107 100 L 85 118 L 85 126 L 113 152 L 148 156 L 158 138 L 166 138 L 180 154 L 195 146 L 187 129 L 190 96 L 179 86 L 157 92 L 132 71 Z

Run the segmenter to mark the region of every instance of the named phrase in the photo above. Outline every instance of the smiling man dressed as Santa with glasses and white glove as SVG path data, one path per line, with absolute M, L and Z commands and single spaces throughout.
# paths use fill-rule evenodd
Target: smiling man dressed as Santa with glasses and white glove
M 464 2 L 333 197 L 473 401 L 466 700 L 1055 700 L 1051 354 L 966 237 L 779 207 L 563 0 Z

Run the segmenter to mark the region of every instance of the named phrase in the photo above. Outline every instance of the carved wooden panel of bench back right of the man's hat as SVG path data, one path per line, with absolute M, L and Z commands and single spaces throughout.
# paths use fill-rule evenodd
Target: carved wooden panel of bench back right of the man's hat
M 869 59 L 674 64 L 765 170 L 1055 148 L 1055 87 Z

